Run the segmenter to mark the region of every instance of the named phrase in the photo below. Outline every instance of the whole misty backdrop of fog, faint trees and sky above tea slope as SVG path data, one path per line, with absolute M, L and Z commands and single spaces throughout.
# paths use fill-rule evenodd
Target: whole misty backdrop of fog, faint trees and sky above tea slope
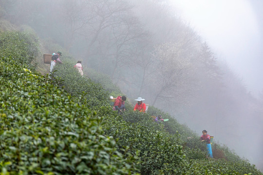
M 263 171 L 262 2 L 173 2 L 3 0 L 0 18 Z

